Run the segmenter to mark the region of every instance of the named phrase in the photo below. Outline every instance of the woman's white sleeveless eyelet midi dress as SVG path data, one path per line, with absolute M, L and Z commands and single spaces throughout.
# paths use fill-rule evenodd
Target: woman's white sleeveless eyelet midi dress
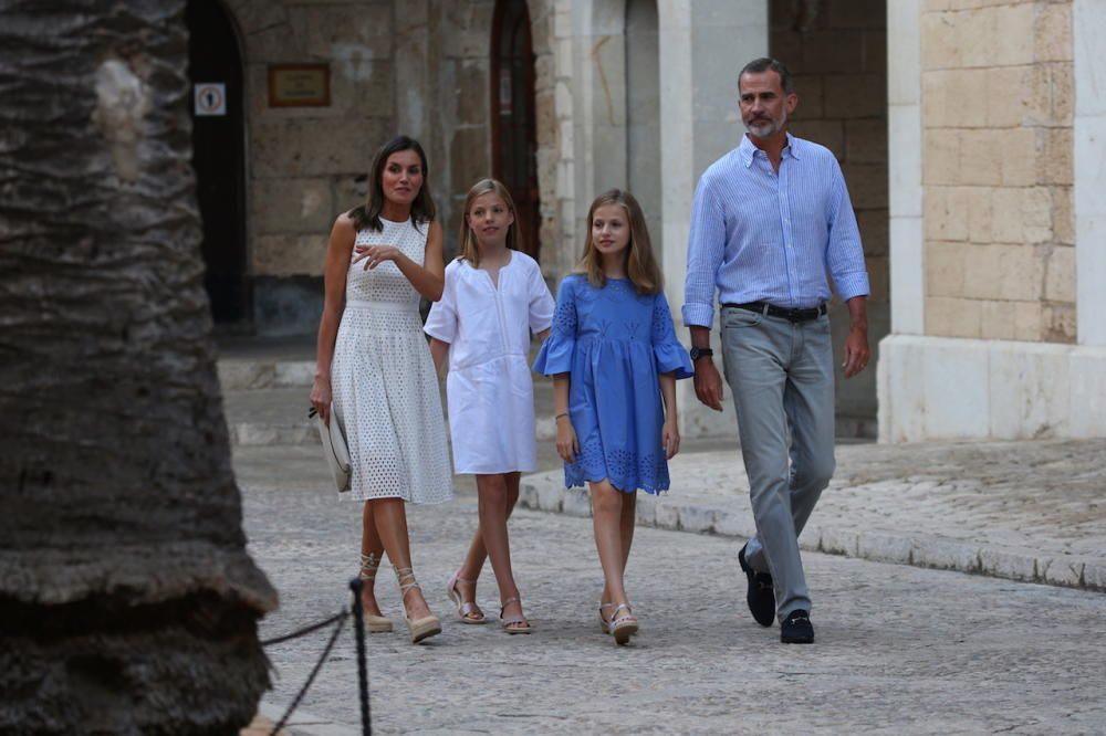
M 380 222 L 382 232 L 362 230 L 356 244 L 395 245 L 421 264 L 430 223 Z M 351 497 L 450 501 L 446 425 L 419 294 L 392 261 L 364 265 L 349 265 L 331 365 L 334 410 L 349 444 Z

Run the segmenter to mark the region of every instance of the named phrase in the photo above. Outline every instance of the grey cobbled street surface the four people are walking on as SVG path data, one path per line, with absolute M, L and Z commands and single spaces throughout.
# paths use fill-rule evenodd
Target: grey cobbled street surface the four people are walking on
M 316 452 L 236 450 L 250 549 L 281 595 L 264 637 L 348 600 L 359 507 L 328 491 Z M 686 456 L 674 476 L 706 472 L 710 455 Z M 876 460 L 864 471 L 872 484 L 897 476 Z M 859 477 L 854 473 L 842 477 Z M 401 621 L 396 632 L 369 638 L 378 733 L 1106 732 L 1106 598 L 1086 590 L 810 553 L 817 643 L 786 646 L 778 629 L 761 629 L 744 608 L 739 540 L 639 528 L 628 589 L 643 631 L 618 649 L 595 621 L 602 579 L 589 522 L 520 511 L 512 548 L 535 633 L 460 624 L 449 617 L 444 586 L 476 526 L 471 486 L 461 487 L 452 504 L 409 512 L 416 571 L 446 623 L 419 646 L 407 643 Z M 816 516 L 833 513 L 836 495 L 827 494 Z M 881 505 L 873 503 L 865 519 L 896 513 Z M 1048 518 L 1082 513 L 1068 511 L 1057 503 Z M 395 582 L 382 576 L 378 590 L 385 612 L 398 618 Z M 494 599 L 486 568 L 479 600 L 493 612 Z M 279 680 L 267 714 L 291 701 L 324 641 L 321 633 L 269 650 Z M 303 708 L 353 725 L 356 662 L 352 638 L 345 642 Z M 319 728 L 300 733 L 324 733 Z M 331 733 L 340 730 L 332 725 Z

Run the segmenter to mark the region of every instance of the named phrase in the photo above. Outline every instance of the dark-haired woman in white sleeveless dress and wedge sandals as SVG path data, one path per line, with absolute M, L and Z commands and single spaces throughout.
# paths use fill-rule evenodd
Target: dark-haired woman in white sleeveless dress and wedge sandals
M 441 297 L 441 228 L 426 155 L 399 136 L 376 154 L 368 202 L 338 217 L 324 274 L 311 403 L 349 445 L 351 496 L 362 514 L 362 603 L 369 631 L 390 631 L 374 592 L 387 551 L 413 642 L 441 631 L 411 569 L 405 503 L 452 498 L 438 381 L 419 295 Z M 334 416 L 331 416 L 333 402 Z

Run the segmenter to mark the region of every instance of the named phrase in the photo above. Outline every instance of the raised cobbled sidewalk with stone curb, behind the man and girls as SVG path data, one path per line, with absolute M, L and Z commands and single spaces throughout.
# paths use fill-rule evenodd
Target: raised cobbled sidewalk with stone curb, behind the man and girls
M 749 482 L 734 450 L 681 453 L 672 490 L 639 494 L 638 523 L 748 538 Z M 525 476 L 528 508 L 589 516 L 560 470 Z M 804 549 L 1106 591 L 1106 441 L 837 448 Z

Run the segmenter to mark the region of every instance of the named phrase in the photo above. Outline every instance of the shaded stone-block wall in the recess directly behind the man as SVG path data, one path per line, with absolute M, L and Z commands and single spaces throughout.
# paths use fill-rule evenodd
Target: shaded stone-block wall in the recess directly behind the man
M 875 349 L 890 328 L 886 2 L 772 0 L 769 8 L 771 53 L 792 71 L 799 94 L 791 130 L 834 151 L 848 183 L 872 283 L 868 337 Z M 848 312 L 835 304 L 831 318 L 839 349 Z M 847 382 L 839 372 L 838 432 L 874 435 L 875 371 Z

